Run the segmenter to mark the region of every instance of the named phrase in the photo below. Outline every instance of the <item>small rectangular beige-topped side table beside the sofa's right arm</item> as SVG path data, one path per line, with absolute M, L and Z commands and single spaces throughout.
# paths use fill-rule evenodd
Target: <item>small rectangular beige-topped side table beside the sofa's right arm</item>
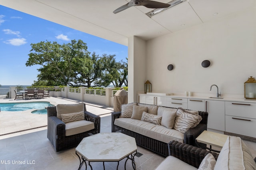
M 218 150 L 213 150 L 212 146 L 222 148 L 224 143 L 226 142 L 228 135 L 215 133 L 211 131 L 203 131 L 197 138 L 196 142 L 200 145 L 200 143 L 204 143 L 206 145 L 210 145 L 210 148 L 204 147 L 206 149 L 212 150 L 214 152 L 220 152 Z M 202 145 L 200 145 L 202 146 Z

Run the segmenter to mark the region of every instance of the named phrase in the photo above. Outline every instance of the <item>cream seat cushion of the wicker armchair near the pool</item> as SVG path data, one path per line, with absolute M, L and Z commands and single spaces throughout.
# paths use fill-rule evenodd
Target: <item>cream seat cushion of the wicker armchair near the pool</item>
M 71 136 L 94 129 L 94 123 L 86 120 L 72 121 L 65 123 L 65 135 Z

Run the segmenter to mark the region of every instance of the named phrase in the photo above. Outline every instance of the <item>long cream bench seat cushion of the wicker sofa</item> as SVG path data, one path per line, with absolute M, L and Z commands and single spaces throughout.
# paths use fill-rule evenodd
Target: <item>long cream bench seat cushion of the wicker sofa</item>
M 162 125 L 156 125 L 154 123 L 141 121 L 138 119 L 131 118 L 118 118 L 115 119 L 114 125 L 120 126 L 124 129 L 134 131 L 141 135 L 169 143 L 172 140 L 184 142 L 184 134 L 175 130 L 168 129 Z

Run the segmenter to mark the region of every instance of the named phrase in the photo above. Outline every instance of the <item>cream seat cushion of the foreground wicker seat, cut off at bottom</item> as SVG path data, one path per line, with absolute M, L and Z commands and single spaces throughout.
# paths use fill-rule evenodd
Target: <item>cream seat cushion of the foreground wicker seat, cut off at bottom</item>
M 182 160 L 174 157 L 167 156 L 155 170 L 197 170 L 194 166 L 186 164 Z

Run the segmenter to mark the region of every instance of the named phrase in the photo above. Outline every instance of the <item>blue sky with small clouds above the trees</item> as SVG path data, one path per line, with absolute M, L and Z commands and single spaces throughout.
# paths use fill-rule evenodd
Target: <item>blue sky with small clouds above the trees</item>
M 37 80 L 37 68 L 25 65 L 31 43 L 56 41 L 59 44 L 81 39 L 88 51 L 97 55 L 116 55 L 126 61 L 128 47 L 75 29 L 0 5 L 0 84 L 31 85 Z

